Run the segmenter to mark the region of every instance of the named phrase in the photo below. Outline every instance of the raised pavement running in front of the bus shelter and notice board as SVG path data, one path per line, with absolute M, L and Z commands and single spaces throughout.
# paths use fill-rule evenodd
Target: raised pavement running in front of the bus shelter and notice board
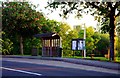
M 19 56 L 19 55 L 6 55 L 2 57 L 3 58 L 27 58 L 27 59 L 63 61 L 63 62 L 69 62 L 69 63 L 74 63 L 74 64 L 82 64 L 82 65 L 95 66 L 95 67 L 101 67 L 101 68 L 107 68 L 107 69 L 113 69 L 113 70 L 120 71 L 120 63 L 86 60 L 86 59 L 80 59 L 80 58 L 78 59 L 78 58 Z

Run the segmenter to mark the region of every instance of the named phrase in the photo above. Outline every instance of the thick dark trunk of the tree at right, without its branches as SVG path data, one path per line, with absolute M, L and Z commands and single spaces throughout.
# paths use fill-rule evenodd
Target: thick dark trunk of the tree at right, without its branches
M 110 15 L 110 56 L 109 56 L 109 60 L 110 61 L 114 61 L 114 36 L 115 36 L 115 10 L 111 11 L 111 15 Z

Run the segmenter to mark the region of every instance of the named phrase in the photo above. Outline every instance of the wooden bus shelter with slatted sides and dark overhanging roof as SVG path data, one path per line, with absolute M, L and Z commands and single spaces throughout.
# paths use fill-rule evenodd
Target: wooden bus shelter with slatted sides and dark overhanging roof
M 42 56 L 61 57 L 61 38 L 57 33 L 36 34 L 42 40 Z

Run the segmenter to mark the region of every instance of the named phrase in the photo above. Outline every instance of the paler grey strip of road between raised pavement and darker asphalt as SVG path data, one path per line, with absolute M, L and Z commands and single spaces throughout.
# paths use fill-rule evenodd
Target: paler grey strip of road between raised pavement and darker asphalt
M 2 61 L 3 61 L 2 67 L 5 66 L 4 65 L 4 61 L 5 61 L 5 62 L 38 64 L 38 65 L 80 69 L 80 70 L 86 70 L 86 71 L 96 71 L 96 72 L 103 72 L 103 73 L 119 74 L 119 70 L 113 70 L 113 69 L 107 69 L 107 68 L 101 68 L 101 67 L 95 67 L 95 66 L 88 66 L 88 65 L 82 65 L 82 64 L 74 64 L 74 63 L 69 63 L 69 62 L 64 62 L 64 61 L 28 59 L 28 58 L 3 58 Z M 10 66 L 9 63 L 7 66 Z M 14 65 L 14 63 L 13 63 L 12 66 L 16 66 L 16 65 Z

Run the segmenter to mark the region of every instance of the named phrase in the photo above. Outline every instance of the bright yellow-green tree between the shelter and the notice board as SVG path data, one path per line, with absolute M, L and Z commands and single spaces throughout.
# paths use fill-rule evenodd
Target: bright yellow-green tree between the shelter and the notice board
M 72 30 L 66 23 L 61 23 L 59 35 L 62 39 L 63 56 L 72 56 L 71 40 L 78 38 L 76 30 Z

